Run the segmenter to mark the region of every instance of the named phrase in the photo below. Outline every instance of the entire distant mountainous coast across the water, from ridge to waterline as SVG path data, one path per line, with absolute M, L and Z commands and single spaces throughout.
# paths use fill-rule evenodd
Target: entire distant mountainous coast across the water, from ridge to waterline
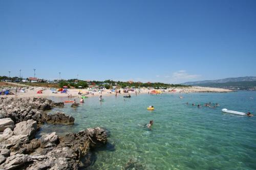
M 186 82 L 183 85 L 219 87 L 234 90 L 256 90 L 256 77 L 238 77 L 219 80 L 204 80 L 196 82 Z

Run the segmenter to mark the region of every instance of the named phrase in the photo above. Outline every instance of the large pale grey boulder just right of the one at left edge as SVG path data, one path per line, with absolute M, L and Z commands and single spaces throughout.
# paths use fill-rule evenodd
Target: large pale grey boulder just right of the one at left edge
M 37 128 L 36 121 L 29 119 L 27 121 L 17 123 L 15 125 L 13 133 L 15 135 L 27 135 L 29 139 L 32 139 L 36 134 L 36 128 Z

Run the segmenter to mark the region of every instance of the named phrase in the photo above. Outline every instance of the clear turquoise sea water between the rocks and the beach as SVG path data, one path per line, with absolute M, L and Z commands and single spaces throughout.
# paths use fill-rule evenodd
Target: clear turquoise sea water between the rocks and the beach
M 89 127 L 109 131 L 109 144 L 97 150 L 88 169 L 256 169 L 256 91 L 231 93 L 139 94 L 88 98 L 77 109 L 56 108 L 75 117 L 75 125 L 45 125 L 39 135 L 78 132 Z M 62 100 L 66 99 L 54 99 Z M 188 105 L 186 105 L 188 102 Z M 217 108 L 192 103 L 219 103 Z M 154 105 L 154 111 L 146 108 Z M 255 116 L 222 113 L 221 109 Z M 152 130 L 142 125 L 154 120 Z M 130 169 L 132 169 L 132 167 Z

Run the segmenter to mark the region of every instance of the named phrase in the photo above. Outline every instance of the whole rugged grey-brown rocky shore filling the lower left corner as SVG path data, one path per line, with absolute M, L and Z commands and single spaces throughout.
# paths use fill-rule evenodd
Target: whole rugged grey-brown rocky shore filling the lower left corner
M 64 113 L 47 114 L 63 107 L 45 98 L 0 98 L 0 169 L 78 169 L 90 165 L 90 149 L 108 142 L 99 127 L 58 136 L 35 138 L 40 124 L 74 124 Z M 86 160 L 81 162 L 81 159 Z

